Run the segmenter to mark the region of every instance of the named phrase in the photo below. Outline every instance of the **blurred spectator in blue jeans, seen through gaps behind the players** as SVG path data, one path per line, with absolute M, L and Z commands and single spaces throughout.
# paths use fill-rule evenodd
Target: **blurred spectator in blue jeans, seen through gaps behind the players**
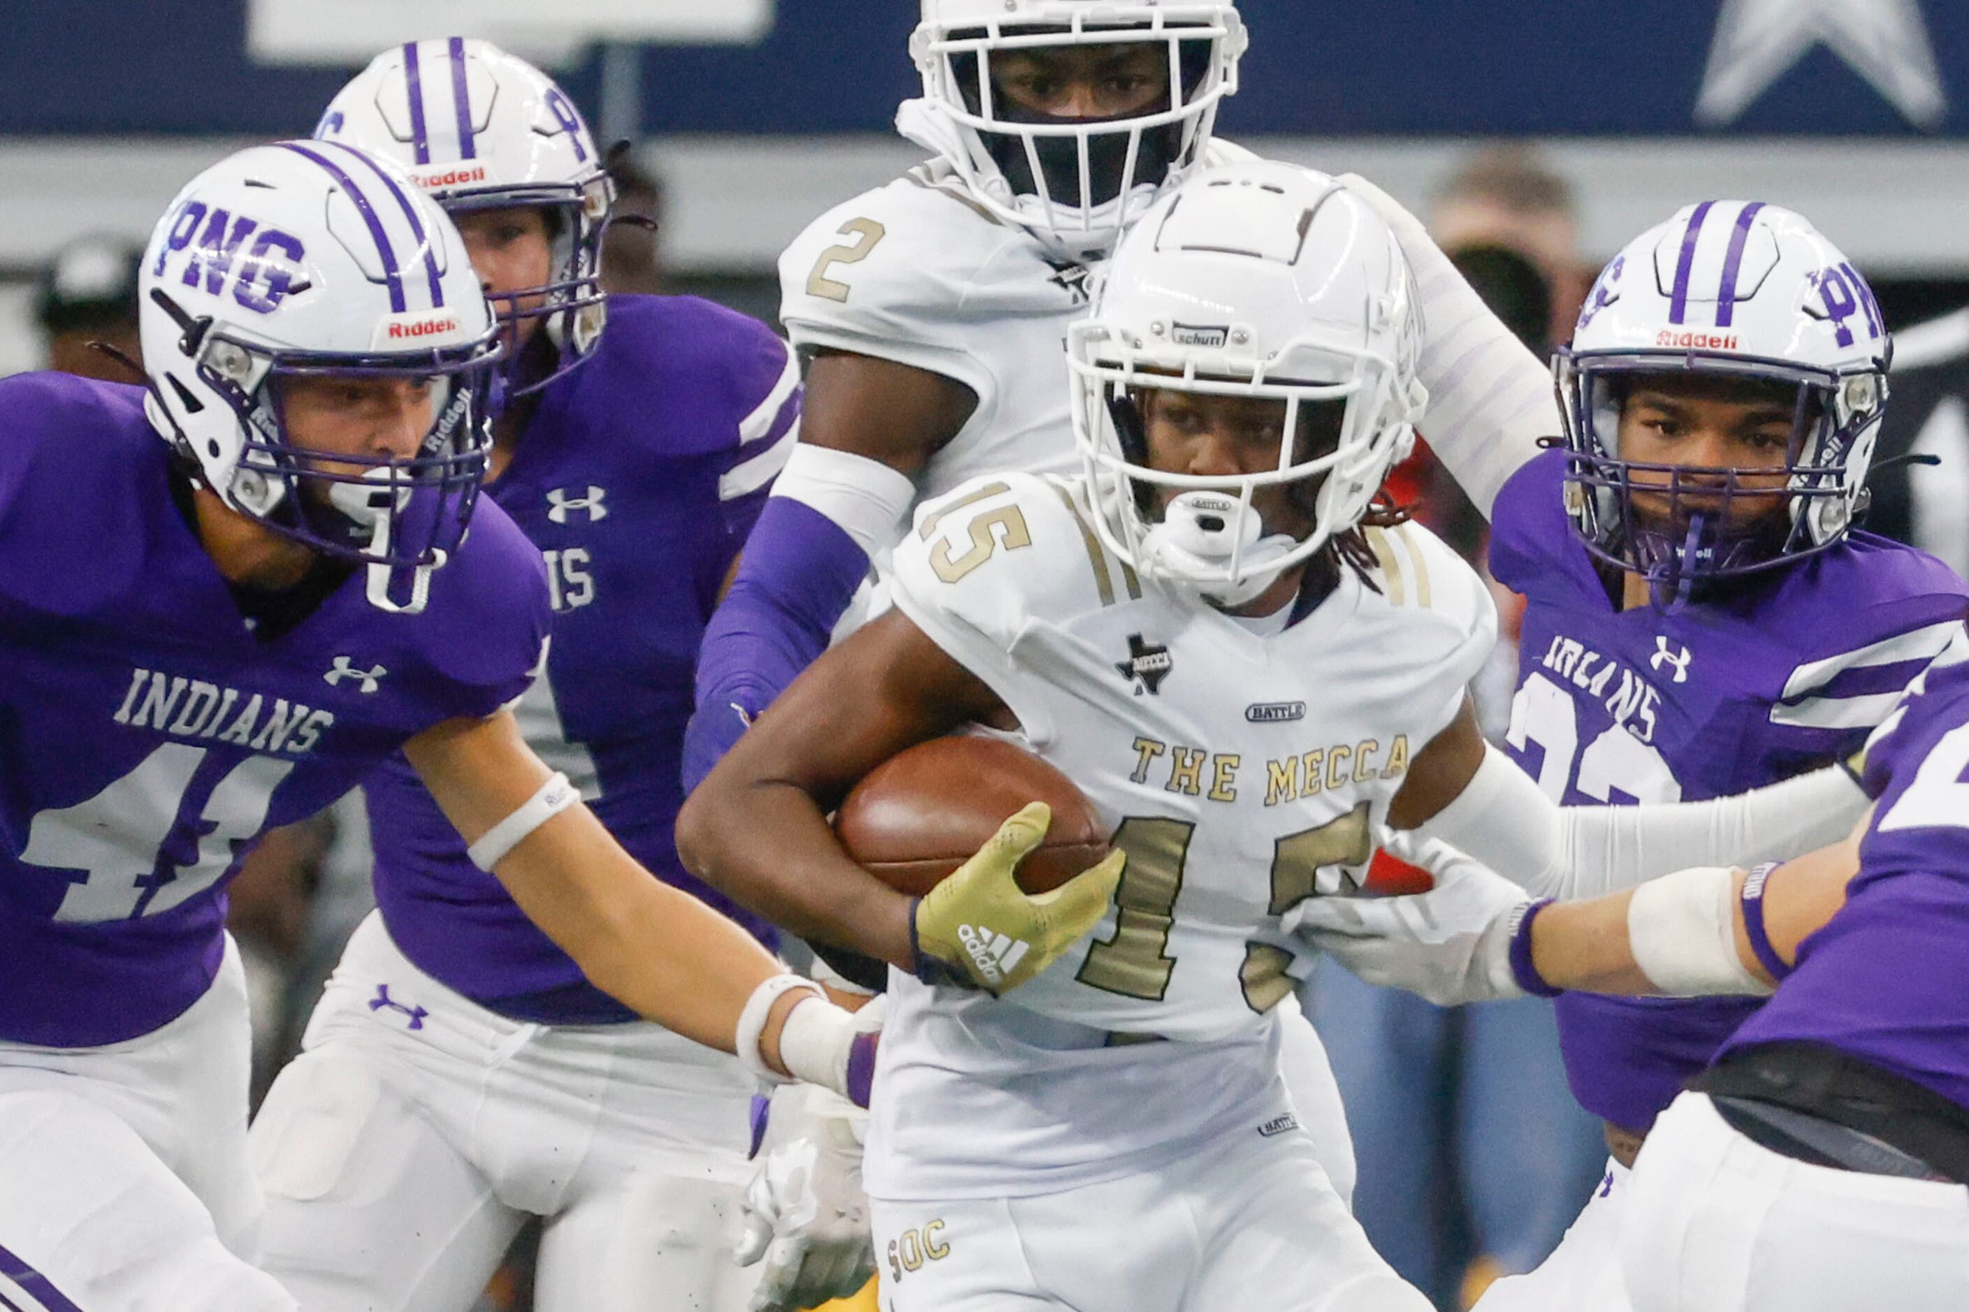
M 1455 175 L 1431 230 L 1479 295 L 1536 355 L 1569 333 L 1589 278 L 1577 274 L 1571 191 L 1524 152 L 1493 150 Z M 1554 278 L 1569 282 L 1559 305 Z M 1424 443 L 1396 471 L 1396 500 L 1473 563 L 1489 526 Z M 1489 575 L 1487 575 L 1489 577 Z M 1520 603 L 1498 597 L 1500 640 L 1475 697 L 1491 737 L 1510 723 Z M 1420 881 L 1420 883 L 1418 883 Z M 1428 877 L 1386 859 L 1370 886 Z M 1491 1279 L 1530 1271 L 1557 1245 L 1599 1180 L 1599 1121 L 1565 1085 L 1552 1003 L 1439 1009 L 1323 967 L 1309 1009 L 1333 1058 L 1361 1166 L 1355 1215 L 1437 1306 L 1469 1306 Z

